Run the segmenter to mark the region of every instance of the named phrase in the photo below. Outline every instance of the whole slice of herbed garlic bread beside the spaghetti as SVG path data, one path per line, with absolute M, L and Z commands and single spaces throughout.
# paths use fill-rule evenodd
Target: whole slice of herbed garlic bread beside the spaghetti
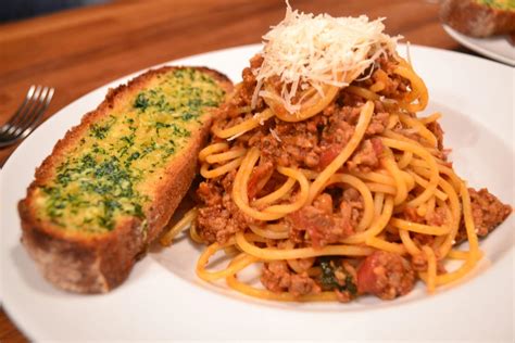
M 149 71 L 66 132 L 18 203 L 22 242 L 50 282 L 99 293 L 127 278 L 186 194 L 230 90 L 204 67 Z

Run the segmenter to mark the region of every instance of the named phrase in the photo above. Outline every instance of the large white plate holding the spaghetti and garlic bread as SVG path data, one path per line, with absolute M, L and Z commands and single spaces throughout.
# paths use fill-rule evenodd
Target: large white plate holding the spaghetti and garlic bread
M 235 48 L 172 64 L 206 65 L 239 80 L 258 49 Z M 422 47 L 412 47 L 411 54 L 430 90 L 426 112 L 444 114 L 445 141 L 454 149 L 457 172 L 472 186 L 488 186 L 514 204 L 513 69 Z M 407 296 L 391 302 L 372 296 L 347 305 L 256 301 L 201 282 L 193 272 L 199 247 L 187 239 L 152 252 L 109 294 L 77 295 L 54 289 L 20 244 L 16 203 L 55 141 L 101 102 L 109 87 L 128 78 L 64 107 L 13 153 L 1 173 L 3 306 L 30 339 L 513 339 L 513 216 L 481 242 L 486 257 L 476 272 L 435 295 L 418 284 Z

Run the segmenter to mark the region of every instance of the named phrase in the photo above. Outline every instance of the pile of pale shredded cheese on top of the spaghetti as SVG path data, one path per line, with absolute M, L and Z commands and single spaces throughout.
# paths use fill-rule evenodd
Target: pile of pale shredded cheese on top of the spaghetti
M 299 13 L 287 5 L 286 17 L 263 36 L 264 58 L 261 67 L 253 71 L 258 86 L 252 107 L 258 97 L 273 97 L 262 90 L 265 79 L 278 76 L 282 84 L 279 99 L 290 113 L 299 111 L 292 103 L 299 90 L 313 87 L 323 96 L 324 85 L 346 87 L 348 75 L 362 74 L 379 56 L 393 54 L 401 38 L 382 33 L 384 18 L 368 21 L 359 17 L 314 16 Z

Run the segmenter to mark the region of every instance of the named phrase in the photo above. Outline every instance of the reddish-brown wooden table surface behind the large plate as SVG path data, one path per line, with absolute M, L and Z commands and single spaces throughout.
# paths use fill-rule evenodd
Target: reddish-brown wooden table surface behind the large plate
M 388 34 L 470 53 L 444 33 L 435 0 L 290 2 L 304 12 L 385 16 Z M 138 69 L 259 42 L 284 14 L 282 0 L 125 0 L 0 25 L 0 125 L 33 84 L 55 88 L 48 118 L 87 92 Z M 0 167 L 14 149 L 0 149 Z M 26 340 L 1 309 L 0 342 Z

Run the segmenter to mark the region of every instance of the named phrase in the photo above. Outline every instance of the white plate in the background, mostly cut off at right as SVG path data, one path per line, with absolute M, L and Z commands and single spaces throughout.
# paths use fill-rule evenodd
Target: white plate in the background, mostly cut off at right
M 463 35 L 448 25 L 443 29 L 457 42 L 487 58 L 515 66 L 515 47 L 510 45 L 506 36 L 475 38 Z

